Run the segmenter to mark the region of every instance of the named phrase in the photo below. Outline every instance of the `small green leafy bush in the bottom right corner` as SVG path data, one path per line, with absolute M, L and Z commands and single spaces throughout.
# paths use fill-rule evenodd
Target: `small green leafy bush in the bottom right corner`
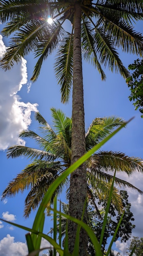
M 143 237 L 139 238 L 138 236 L 133 236 L 130 247 L 128 248 L 128 255 L 130 255 L 133 249 L 133 256 L 143 256 Z

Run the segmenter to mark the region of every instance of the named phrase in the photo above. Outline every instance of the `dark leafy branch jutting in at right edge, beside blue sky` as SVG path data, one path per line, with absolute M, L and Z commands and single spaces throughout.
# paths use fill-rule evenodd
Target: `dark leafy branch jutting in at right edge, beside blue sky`
M 131 91 L 129 100 L 134 101 L 135 110 L 139 108 L 139 111 L 143 114 L 143 60 L 137 59 L 128 66 L 128 69 L 134 70 L 132 75 L 126 79 Z M 143 118 L 143 115 L 141 117 Z

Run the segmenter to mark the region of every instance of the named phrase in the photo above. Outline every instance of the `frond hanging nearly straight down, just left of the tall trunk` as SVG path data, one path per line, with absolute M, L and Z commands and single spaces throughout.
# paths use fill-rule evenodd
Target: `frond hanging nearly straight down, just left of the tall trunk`
M 73 74 L 73 33 L 60 41 L 54 65 L 56 78 L 61 85 L 61 101 L 67 103 L 72 87 Z

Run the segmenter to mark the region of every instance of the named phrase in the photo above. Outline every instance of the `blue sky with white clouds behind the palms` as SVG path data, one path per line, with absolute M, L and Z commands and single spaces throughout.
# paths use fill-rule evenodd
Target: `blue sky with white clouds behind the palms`
M 2 25 L 0 25 L 2 27 Z M 136 29 L 136 27 L 135 27 Z M 137 30 L 143 33 L 142 22 Z M 1 31 L 1 28 L 0 28 Z M 0 58 L 8 47 L 8 40 L 0 36 Z M 133 63 L 137 56 L 120 52 L 120 57 L 126 67 Z M 27 62 L 26 62 L 27 61 Z M 0 195 L 17 173 L 29 163 L 27 159 L 7 159 L 6 148 L 13 144 L 24 143 L 18 138 L 19 132 L 24 129 L 37 130 L 38 123 L 34 119 L 34 112 L 41 115 L 52 124 L 50 108 L 60 108 L 69 117 L 72 115 L 72 99 L 69 103 L 61 103 L 60 87 L 54 76 L 54 56 L 49 56 L 43 63 L 39 79 L 36 83 L 30 83 L 35 60 L 33 56 L 26 57 L 15 65 L 11 71 L 0 70 L 0 160 L 1 160 L 1 185 Z M 118 116 L 125 120 L 134 117 L 127 128 L 122 129 L 115 137 L 108 141 L 105 150 L 120 151 L 128 156 L 143 159 L 143 119 L 139 111 L 134 111 L 134 106 L 129 101 L 130 91 L 125 80 L 106 69 L 106 81 L 101 81 L 100 74 L 89 63 L 83 63 L 84 102 L 85 102 L 85 129 L 89 127 L 95 117 Z M 31 140 L 25 141 L 26 146 L 35 146 Z M 120 176 L 128 182 L 143 190 L 143 175 L 134 174 L 130 179 L 126 175 Z M 135 191 L 128 190 L 129 201 L 134 213 L 134 236 L 143 237 L 143 196 Z M 0 218 L 14 221 L 15 223 L 32 227 L 35 213 L 29 219 L 24 219 L 24 199 L 27 191 L 14 198 L 0 201 Z M 64 195 L 61 196 L 64 201 Z M 45 232 L 50 230 L 52 222 L 46 220 Z M 0 222 L 0 255 L 24 256 L 26 255 L 25 231 Z M 116 243 L 117 252 L 121 250 L 126 256 L 128 243 Z

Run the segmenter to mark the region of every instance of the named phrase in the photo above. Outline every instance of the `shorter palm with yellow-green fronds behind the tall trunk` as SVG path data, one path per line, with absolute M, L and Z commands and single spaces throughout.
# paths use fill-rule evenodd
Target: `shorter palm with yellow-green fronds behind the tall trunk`
M 20 133 L 21 138 L 34 139 L 40 149 L 29 148 L 26 146 L 12 146 L 7 150 L 7 157 L 30 157 L 32 163 L 9 182 L 3 192 L 2 197 L 11 197 L 25 189 L 30 189 L 26 200 L 24 216 L 28 217 L 31 210 L 36 209 L 41 202 L 45 192 L 52 182 L 71 165 L 71 141 L 72 141 L 72 119 L 66 117 L 61 110 L 52 108 L 53 128 L 37 112 L 35 119 L 41 125 L 39 127 L 41 135 L 26 130 Z M 86 134 L 86 151 L 93 148 L 102 139 L 109 135 L 117 126 L 124 123 L 118 117 L 95 118 L 89 126 Z M 34 160 L 33 160 L 34 159 Z M 128 157 L 124 153 L 112 151 L 99 151 L 93 154 L 86 162 L 87 166 L 87 191 L 90 200 L 96 207 L 95 199 L 104 198 L 106 200 L 111 187 L 113 175 L 111 172 L 117 170 L 124 171 L 131 175 L 134 171 L 142 171 L 142 160 L 135 157 Z M 110 172 L 110 173 L 109 173 Z M 61 193 L 65 184 L 68 186 L 68 179 L 56 190 L 56 194 Z M 128 186 L 135 188 L 132 184 L 115 178 L 118 186 Z M 137 189 L 139 193 L 142 193 Z M 69 189 L 67 189 L 69 191 Z M 54 194 L 55 195 L 55 194 Z M 54 197 L 53 195 L 53 197 Z M 67 192 L 68 195 L 68 192 Z M 51 202 L 52 202 L 51 198 Z M 122 210 L 121 199 L 118 189 L 114 187 L 113 203 Z M 50 202 L 49 202 L 50 204 Z M 96 207 L 98 211 L 98 207 Z

